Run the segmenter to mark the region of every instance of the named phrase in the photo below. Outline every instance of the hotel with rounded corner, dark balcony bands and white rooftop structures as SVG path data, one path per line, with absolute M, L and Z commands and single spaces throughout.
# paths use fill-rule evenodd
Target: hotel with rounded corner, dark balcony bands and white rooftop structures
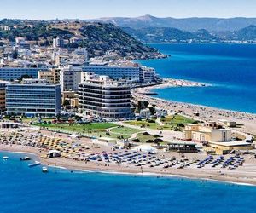
M 85 81 L 79 83 L 79 109 L 99 118 L 131 117 L 131 87 L 124 82 L 111 80 L 86 72 Z

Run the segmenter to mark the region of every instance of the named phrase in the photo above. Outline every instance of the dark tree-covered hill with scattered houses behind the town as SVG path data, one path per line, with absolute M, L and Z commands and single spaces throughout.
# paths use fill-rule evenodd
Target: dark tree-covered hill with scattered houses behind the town
M 9 26 L 9 30 L 4 30 Z M 109 23 L 91 23 L 86 21 L 33 21 L 0 20 L 0 40 L 14 42 L 15 37 L 26 37 L 30 43 L 49 46 L 54 37 L 67 41 L 79 37 L 79 43 L 68 43 L 67 47 L 85 47 L 89 55 L 104 55 L 108 50 L 131 59 L 150 59 L 162 57 L 158 50 L 148 47 L 136 38 L 124 32 L 118 26 Z

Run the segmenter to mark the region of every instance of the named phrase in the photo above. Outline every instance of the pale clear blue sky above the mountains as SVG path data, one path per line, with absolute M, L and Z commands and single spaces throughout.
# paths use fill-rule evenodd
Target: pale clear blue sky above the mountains
M 256 17 L 256 0 L 0 0 L 0 19 Z

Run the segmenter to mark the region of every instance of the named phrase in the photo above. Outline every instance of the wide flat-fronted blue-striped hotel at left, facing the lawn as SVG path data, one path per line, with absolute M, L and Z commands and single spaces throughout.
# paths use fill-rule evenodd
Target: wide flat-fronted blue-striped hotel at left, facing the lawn
M 25 79 L 8 83 L 6 113 L 29 117 L 54 117 L 61 112 L 61 86 L 46 80 Z

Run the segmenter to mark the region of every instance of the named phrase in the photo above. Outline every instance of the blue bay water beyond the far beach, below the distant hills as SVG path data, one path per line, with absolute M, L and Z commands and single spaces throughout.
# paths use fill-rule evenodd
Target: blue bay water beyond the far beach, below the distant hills
M 163 78 L 209 83 L 210 87 L 154 89 L 159 98 L 256 113 L 256 45 L 149 43 L 167 59 L 139 60 Z

